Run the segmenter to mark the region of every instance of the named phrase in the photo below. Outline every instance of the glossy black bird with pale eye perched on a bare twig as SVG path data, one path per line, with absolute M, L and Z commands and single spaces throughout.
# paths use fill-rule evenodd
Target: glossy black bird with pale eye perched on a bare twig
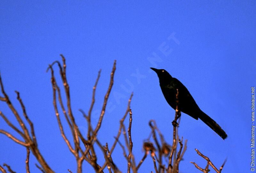
M 189 93 L 186 86 L 184 86 L 178 79 L 173 78 L 164 69 L 154 70 L 159 78 L 161 90 L 164 94 L 165 100 L 175 110 L 176 109 L 176 94 L 177 89 L 179 91 L 179 109 L 181 112 L 188 114 L 189 116 L 198 120 L 200 118 L 205 124 L 207 124 L 214 132 L 216 132 L 222 139 L 227 138 L 227 134 L 221 129 L 220 125 L 217 124 L 211 117 L 206 115 L 196 104 L 196 101 Z

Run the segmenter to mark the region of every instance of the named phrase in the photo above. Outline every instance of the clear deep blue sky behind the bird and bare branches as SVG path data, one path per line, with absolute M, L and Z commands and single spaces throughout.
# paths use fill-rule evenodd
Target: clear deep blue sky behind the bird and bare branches
M 175 111 L 165 101 L 156 74 L 149 69 L 163 68 L 188 88 L 199 107 L 228 134 L 223 140 L 201 120 L 182 114 L 179 134 L 188 139 L 188 148 L 180 172 L 199 172 L 191 161 L 205 167 L 206 161 L 194 148 L 218 168 L 228 158 L 223 172 L 250 172 L 255 15 L 255 1 L 1 1 L 0 70 L 5 90 L 21 113 L 14 93 L 20 91 L 34 123 L 39 149 L 50 167 L 56 172 L 75 172 L 75 158 L 60 135 L 54 114 L 51 76 L 45 72 L 48 64 L 61 60 L 60 53 L 66 57 L 72 109 L 83 131 L 87 125 L 78 109 L 88 111 L 92 86 L 102 69 L 92 115 L 95 127 L 112 65 L 117 60 L 115 82 L 98 136 L 102 143 L 114 142 L 133 91 L 132 140 L 137 163 L 143 156 L 142 144 L 150 132 L 150 119 L 156 120 L 172 144 Z M 174 39 L 168 39 L 170 35 Z M 163 53 L 161 47 L 166 46 L 167 53 Z M 158 59 L 152 64 L 149 59 L 154 55 Z M 134 74 L 140 74 L 140 79 Z M 17 124 L 3 102 L 0 110 Z M 125 123 L 128 127 L 128 121 Z M 0 127 L 13 132 L 3 120 Z M 65 130 L 72 140 L 68 128 Z M 26 149 L 2 134 L 0 141 L 0 164 L 25 172 Z M 126 172 L 119 146 L 113 159 Z M 39 172 L 35 163 L 31 154 L 31 172 Z M 103 160 L 99 159 L 99 163 Z M 84 172 L 86 169 L 92 172 L 84 162 Z M 152 159 L 147 158 L 140 172 L 151 170 Z

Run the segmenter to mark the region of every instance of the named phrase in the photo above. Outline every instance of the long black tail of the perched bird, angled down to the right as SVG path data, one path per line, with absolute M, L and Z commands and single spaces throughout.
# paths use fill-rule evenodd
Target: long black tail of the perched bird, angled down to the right
M 221 137 L 222 139 L 225 139 L 225 138 L 228 137 L 228 135 L 226 134 L 226 132 L 221 129 L 220 125 L 217 124 L 211 117 L 209 117 L 208 115 L 206 115 L 203 111 L 201 112 L 201 114 L 199 114 L 199 118 L 200 118 L 205 124 L 207 124 L 212 130 L 214 130 L 214 132 L 216 132 L 218 135 L 220 135 L 220 137 Z

